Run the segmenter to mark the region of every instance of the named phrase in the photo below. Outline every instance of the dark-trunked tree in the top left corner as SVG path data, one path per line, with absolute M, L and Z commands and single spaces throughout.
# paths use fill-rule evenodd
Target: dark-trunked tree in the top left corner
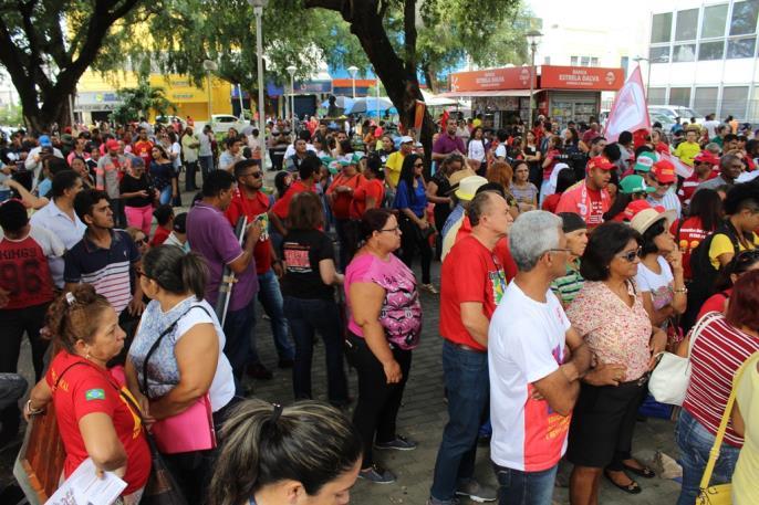
M 28 127 L 44 131 L 53 123 L 69 124 L 69 97 L 80 77 L 96 64 L 104 44 L 115 62 L 127 38 L 126 32 L 114 34 L 112 28 L 125 18 L 137 20 L 142 3 L 147 2 L 0 0 L 0 64 L 19 93 Z M 154 0 L 150 8 L 159 9 L 159 3 Z

